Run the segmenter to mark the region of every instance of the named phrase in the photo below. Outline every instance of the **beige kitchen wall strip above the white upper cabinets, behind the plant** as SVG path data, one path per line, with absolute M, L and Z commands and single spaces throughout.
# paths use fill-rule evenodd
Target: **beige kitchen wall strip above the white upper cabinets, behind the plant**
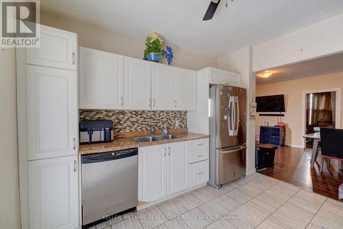
M 82 23 L 73 19 L 62 18 L 56 15 L 41 12 L 40 23 L 61 30 L 68 30 L 78 34 L 80 46 L 95 50 L 113 52 L 134 58 L 143 58 L 145 39 L 137 39 L 129 34 L 111 32 L 99 26 Z M 153 31 L 152 31 L 153 32 Z M 158 32 L 158 31 L 157 31 Z M 164 38 L 167 39 L 167 38 Z M 204 67 L 216 67 L 217 59 L 201 56 L 192 52 L 185 52 L 173 44 L 174 60 L 172 65 L 187 69 L 199 70 Z

